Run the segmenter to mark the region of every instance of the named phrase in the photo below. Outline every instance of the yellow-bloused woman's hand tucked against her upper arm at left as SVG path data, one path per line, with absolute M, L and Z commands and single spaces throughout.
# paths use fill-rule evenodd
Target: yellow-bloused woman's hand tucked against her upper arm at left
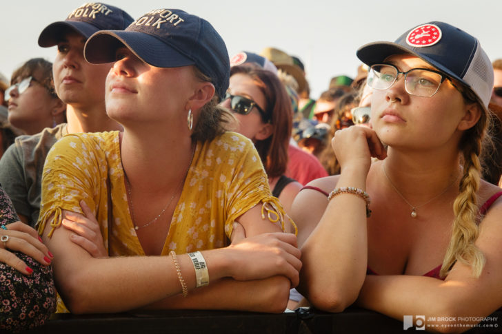
M 94 213 L 83 200 L 80 201 L 80 207 L 83 214 L 66 211 L 61 225 L 74 232 L 70 234 L 70 240 L 85 249 L 93 258 L 108 257 L 99 222 Z

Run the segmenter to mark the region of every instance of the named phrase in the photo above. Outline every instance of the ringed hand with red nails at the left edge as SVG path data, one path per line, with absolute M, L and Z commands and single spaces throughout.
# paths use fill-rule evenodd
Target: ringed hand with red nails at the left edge
M 37 231 L 23 222 L 1 226 L 0 262 L 8 264 L 23 274 L 31 275 L 33 269 L 14 252 L 26 254 L 43 266 L 48 266 L 54 258 L 54 255 L 43 244 Z

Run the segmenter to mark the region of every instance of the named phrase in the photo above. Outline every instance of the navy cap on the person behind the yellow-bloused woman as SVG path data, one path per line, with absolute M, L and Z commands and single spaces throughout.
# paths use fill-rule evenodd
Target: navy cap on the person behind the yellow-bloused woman
M 88 39 L 99 30 L 124 30 L 134 21 L 120 8 L 99 2 L 84 3 L 74 9 L 65 21 L 51 23 L 42 30 L 39 45 L 49 48 L 59 42 L 64 29 L 72 29 Z

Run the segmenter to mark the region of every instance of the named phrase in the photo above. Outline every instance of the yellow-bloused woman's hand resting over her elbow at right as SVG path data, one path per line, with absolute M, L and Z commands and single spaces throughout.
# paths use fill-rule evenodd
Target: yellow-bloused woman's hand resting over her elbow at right
M 301 251 L 297 237 L 290 233 L 263 233 L 245 237 L 241 224 L 234 222 L 232 244 L 226 248 L 232 259 L 234 280 L 261 280 L 283 275 L 291 281 L 291 287 L 299 283 Z

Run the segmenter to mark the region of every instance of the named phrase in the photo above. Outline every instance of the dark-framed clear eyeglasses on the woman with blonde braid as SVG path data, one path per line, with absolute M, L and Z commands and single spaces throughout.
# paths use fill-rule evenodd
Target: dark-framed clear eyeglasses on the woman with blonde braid
M 394 65 L 375 64 L 370 67 L 370 72 L 368 72 L 368 85 L 375 90 L 387 90 L 396 82 L 399 74 L 404 74 L 406 92 L 414 96 L 430 97 L 436 94 L 445 79 L 452 83 L 448 76 L 439 71 L 412 68 L 407 72 L 401 72 Z M 454 84 L 452 83 L 452 85 Z

